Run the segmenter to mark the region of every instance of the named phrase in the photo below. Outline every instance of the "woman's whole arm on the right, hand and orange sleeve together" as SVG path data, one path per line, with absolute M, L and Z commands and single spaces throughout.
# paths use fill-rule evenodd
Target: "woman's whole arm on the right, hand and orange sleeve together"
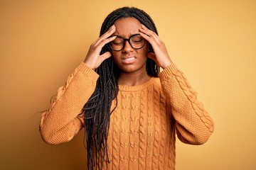
M 171 61 L 164 42 L 145 26 L 139 31 L 153 47 L 154 52 L 149 52 L 148 57 L 164 69 L 159 78 L 176 119 L 178 138 L 189 144 L 203 144 L 213 132 L 213 120 L 198 101 L 196 91 L 193 91 L 184 74 Z

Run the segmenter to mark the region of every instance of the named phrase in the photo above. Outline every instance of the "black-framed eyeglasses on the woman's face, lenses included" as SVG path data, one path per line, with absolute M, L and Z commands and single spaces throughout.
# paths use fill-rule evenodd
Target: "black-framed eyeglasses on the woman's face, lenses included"
M 142 38 L 140 34 L 134 34 L 129 38 L 122 38 L 119 35 L 115 35 L 117 38 L 110 42 L 110 47 L 114 51 L 120 51 L 124 48 L 125 42 L 128 41 L 129 45 L 132 46 L 133 49 L 138 50 L 145 45 L 146 40 Z

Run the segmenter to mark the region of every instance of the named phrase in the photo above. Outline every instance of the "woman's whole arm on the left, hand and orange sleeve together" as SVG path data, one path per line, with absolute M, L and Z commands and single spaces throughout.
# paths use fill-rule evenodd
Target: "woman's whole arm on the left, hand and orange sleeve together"
M 68 142 L 82 128 L 83 120 L 79 118 L 83 106 L 95 91 L 99 75 L 93 70 L 111 56 L 110 52 L 100 54 L 102 47 L 114 40 L 110 37 L 115 26 L 90 45 L 85 61 L 70 74 L 65 86 L 58 90 L 57 98 L 43 113 L 40 123 L 40 132 L 43 140 L 49 144 Z

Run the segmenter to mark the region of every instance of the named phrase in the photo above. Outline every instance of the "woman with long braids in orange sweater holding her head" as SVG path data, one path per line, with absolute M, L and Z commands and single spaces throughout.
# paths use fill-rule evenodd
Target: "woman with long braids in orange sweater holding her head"
M 85 128 L 88 169 L 175 169 L 176 134 L 205 143 L 213 120 L 157 34 L 139 8 L 112 11 L 43 113 L 43 140 L 68 142 Z

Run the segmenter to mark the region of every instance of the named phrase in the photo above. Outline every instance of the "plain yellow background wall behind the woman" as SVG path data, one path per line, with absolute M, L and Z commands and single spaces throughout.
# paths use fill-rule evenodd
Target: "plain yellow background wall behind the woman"
M 202 146 L 176 142 L 177 170 L 256 169 L 256 1 L 0 1 L 0 169 L 85 169 L 83 131 L 41 140 L 50 97 L 85 58 L 103 19 L 137 6 L 215 121 Z

